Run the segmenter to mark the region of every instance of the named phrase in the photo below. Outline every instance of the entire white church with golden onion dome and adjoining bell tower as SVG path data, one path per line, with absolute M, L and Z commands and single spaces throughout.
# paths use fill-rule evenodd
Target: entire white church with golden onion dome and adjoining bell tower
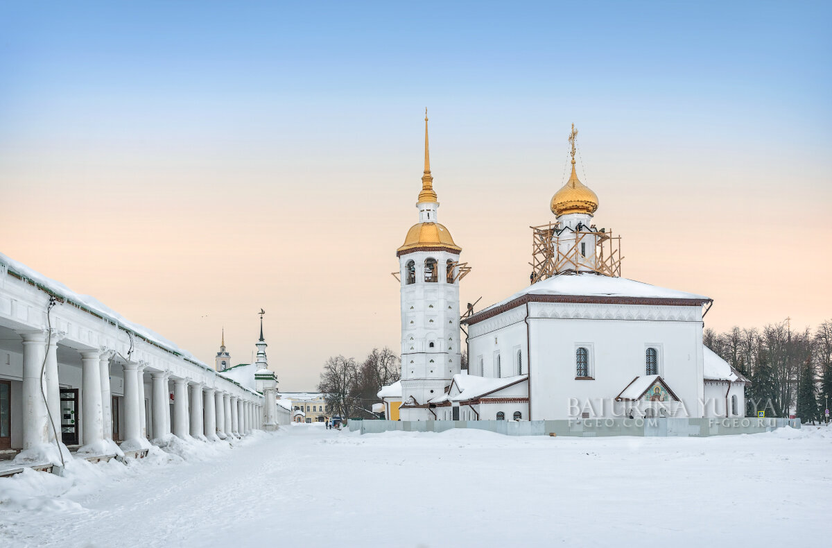
M 711 299 L 620 276 L 619 237 L 594 224 L 598 197 L 577 177 L 576 137 L 572 127 L 572 175 L 550 202 L 554 221 L 533 229 L 532 284 L 460 317 L 470 268 L 438 222 L 425 117 L 418 223 L 396 253 L 400 420 L 745 415 L 748 380 L 702 344 Z

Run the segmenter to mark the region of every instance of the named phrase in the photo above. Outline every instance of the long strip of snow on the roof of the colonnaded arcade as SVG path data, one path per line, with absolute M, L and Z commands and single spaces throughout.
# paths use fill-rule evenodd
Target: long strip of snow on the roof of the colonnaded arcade
M 121 314 L 114 311 L 109 306 L 106 306 L 102 303 L 102 301 L 99 301 L 95 297 L 76 293 L 69 287 L 63 285 L 60 281 L 55 281 L 52 280 L 52 278 L 43 276 L 40 272 L 27 267 L 22 262 L 17 262 L 11 257 L 7 257 L 7 255 L 0 253 L 0 274 L 6 273 L 19 278 L 21 281 L 27 281 L 33 286 L 36 286 L 38 289 L 45 291 L 47 294 L 55 296 L 72 306 L 76 306 L 78 309 L 92 314 L 93 316 L 98 316 L 102 318 L 102 320 L 107 321 L 124 331 L 130 331 L 134 335 L 149 342 L 151 345 L 158 346 L 162 350 L 171 352 L 171 354 L 175 354 L 176 356 L 181 356 L 187 361 L 191 361 L 191 363 L 196 366 L 214 371 L 213 367 L 210 367 L 206 363 L 198 360 L 196 356 L 191 354 L 191 352 L 182 350 L 173 342 L 156 333 L 156 331 L 152 331 L 145 326 L 141 326 L 140 324 L 127 320 L 126 317 L 121 316 Z M 239 383 L 233 379 L 229 379 L 228 377 L 225 378 L 228 381 L 239 385 Z M 253 391 L 247 386 L 241 387 L 245 390 Z

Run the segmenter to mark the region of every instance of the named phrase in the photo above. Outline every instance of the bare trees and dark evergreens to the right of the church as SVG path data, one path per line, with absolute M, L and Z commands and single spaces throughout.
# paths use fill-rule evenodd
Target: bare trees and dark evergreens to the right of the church
M 751 414 L 766 416 L 795 411 L 805 421 L 820 420 L 821 406 L 832 400 L 832 320 L 812 330 L 792 331 L 788 321 L 761 330 L 734 327 L 717 333 L 706 329 L 706 346 L 749 377 L 745 391 Z

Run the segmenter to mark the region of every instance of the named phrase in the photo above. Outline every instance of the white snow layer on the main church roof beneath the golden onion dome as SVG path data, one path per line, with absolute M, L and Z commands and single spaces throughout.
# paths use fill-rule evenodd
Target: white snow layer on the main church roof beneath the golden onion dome
M 556 295 L 556 296 L 620 296 L 635 298 L 654 299 L 696 299 L 708 301 L 709 298 L 696 293 L 676 291 L 666 287 L 651 286 L 649 283 L 628 280 L 622 277 L 600 276 L 594 273 L 584 274 L 561 274 L 552 276 L 543 281 L 533 283 L 531 286 L 518 291 L 503 301 L 488 306 L 482 314 L 496 306 L 504 305 L 524 295 Z

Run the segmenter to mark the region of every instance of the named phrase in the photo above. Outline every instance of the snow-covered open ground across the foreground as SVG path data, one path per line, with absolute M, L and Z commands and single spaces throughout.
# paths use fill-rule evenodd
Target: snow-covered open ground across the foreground
M 0 546 L 701 548 L 830 532 L 832 429 L 812 426 L 592 439 L 293 425 L 173 451 L 0 479 Z

